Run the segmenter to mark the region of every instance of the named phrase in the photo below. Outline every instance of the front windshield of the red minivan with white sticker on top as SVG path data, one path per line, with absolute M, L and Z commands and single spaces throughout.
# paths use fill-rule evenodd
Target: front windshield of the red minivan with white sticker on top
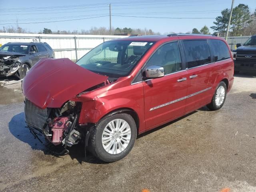
M 154 42 L 107 41 L 84 55 L 76 64 L 109 77 L 128 76 Z

